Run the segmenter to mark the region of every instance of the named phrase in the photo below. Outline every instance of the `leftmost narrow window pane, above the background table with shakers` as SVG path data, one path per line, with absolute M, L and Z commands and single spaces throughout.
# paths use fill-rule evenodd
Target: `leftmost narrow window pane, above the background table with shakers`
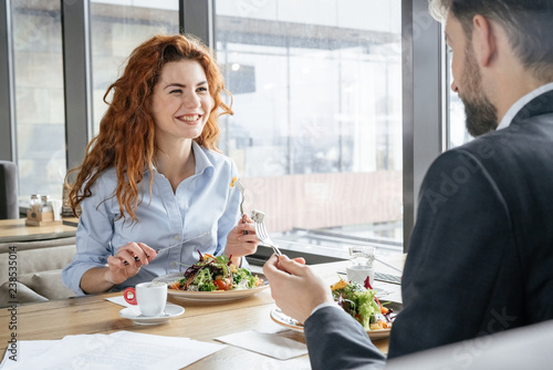
M 65 176 L 59 0 L 12 1 L 20 194 L 61 198 Z

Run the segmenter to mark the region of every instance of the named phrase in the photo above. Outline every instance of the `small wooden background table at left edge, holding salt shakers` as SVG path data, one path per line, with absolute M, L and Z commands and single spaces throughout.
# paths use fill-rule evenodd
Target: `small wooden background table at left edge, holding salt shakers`
M 32 241 L 75 236 L 76 226 L 27 226 L 25 218 L 0 219 L 0 243 Z

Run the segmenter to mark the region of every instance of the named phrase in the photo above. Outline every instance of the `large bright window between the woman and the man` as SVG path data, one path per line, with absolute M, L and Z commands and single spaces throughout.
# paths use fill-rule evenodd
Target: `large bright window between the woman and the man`
M 280 238 L 400 250 L 400 1 L 216 2 L 221 147 Z

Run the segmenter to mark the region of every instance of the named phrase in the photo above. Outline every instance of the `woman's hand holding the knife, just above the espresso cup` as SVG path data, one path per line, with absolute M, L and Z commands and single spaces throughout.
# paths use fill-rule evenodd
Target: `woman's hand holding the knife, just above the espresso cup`
M 148 265 L 156 256 L 157 253 L 146 244 L 129 241 L 117 249 L 115 256 L 107 257 L 105 279 L 113 285 L 122 284 L 138 274 L 140 267 Z

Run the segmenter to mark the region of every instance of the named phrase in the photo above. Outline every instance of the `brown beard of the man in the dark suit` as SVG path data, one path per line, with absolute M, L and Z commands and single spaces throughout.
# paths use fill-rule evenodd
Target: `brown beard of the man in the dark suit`
M 480 70 L 470 43 L 465 55 L 463 79 L 459 81 L 462 95 L 459 97 L 465 104 L 467 131 L 471 136 L 479 136 L 498 127 L 498 111 L 482 91 Z

